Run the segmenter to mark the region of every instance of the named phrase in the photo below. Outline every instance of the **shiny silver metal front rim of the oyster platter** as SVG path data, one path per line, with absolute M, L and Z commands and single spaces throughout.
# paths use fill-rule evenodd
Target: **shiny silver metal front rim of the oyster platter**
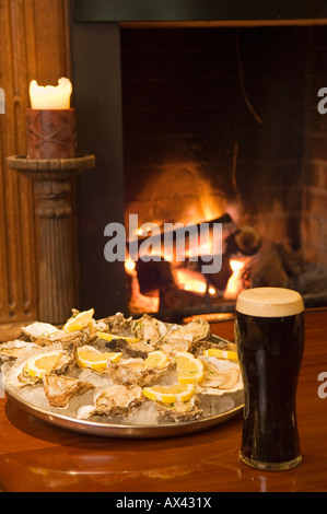
M 221 338 L 211 336 L 214 339 Z M 79 420 L 77 418 L 68 417 L 61 413 L 51 412 L 46 409 L 42 409 L 33 404 L 25 401 L 20 396 L 7 387 L 0 375 L 0 386 L 7 393 L 9 398 L 13 400 L 21 409 L 28 414 L 43 420 L 51 425 L 71 430 L 74 432 L 100 435 L 104 437 L 118 437 L 118 439 L 160 439 L 160 437 L 173 437 L 177 435 L 186 435 L 203 430 L 218 427 L 231 418 L 238 414 L 244 407 L 244 395 L 243 390 L 236 393 L 226 393 L 222 398 L 232 398 L 234 400 L 234 408 L 226 410 L 222 413 L 203 417 L 195 421 L 187 421 L 180 423 L 157 423 L 157 424 L 126 424 L 126 423 L 110 423 L 106 421 L 87 421 Z

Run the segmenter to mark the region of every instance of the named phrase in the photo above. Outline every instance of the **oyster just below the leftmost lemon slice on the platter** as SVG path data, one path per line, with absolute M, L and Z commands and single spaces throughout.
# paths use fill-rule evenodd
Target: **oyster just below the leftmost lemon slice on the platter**
M 94 388 L 90 382 L 70 378 L 68 376 L 45 375 L 43 378 L 45 395 L 51 407 L 65 409 L 75 395 L 83 395 Z

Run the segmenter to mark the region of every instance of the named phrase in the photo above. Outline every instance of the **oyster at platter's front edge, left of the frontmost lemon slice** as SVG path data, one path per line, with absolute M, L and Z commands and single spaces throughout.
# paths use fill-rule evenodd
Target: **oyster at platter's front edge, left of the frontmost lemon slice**
M 124 385 L 114 385 L 108 389 L 95 394 L 93 406 L 80 407 L 78 419 L 89 419 L 92 416 L 108 416 L 125 418 L 130 410 L 143 401 L 142 388 L 135 386 L 128 388 Z

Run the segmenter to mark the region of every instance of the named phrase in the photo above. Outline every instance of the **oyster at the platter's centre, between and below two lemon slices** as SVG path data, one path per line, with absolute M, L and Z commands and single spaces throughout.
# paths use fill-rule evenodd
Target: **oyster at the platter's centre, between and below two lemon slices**
M 122 359 L 118 363 L 109 363 L 108 370 L 113 379 L 118 384 L 138 384 L 144 387 L 163 376 L 171 364 L 168 361 L 164 366 L 148 367 L 143 359 Z

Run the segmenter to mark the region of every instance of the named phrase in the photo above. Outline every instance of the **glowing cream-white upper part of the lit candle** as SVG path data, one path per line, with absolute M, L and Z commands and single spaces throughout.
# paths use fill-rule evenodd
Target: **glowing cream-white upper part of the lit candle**
M 38 85 L 36 80 L 30 84 L 30 98 L 33 109 L 69 109 L 72 85 L 69 79 L 61 78 L 58 85 Z

